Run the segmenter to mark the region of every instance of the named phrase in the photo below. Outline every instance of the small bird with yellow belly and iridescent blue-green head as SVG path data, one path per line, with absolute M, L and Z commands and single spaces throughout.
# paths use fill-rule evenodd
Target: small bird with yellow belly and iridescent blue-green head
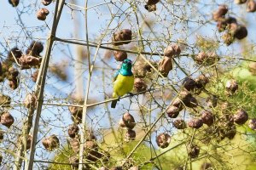
M 119 98 L 131 92 L 133 88 L 134 77 L 131 71 L 131 59 L 125 59 L 121 68 L 113 77 L 113 98 Z M 111 108 L 115 108 L 119 99 L 111 103 Z

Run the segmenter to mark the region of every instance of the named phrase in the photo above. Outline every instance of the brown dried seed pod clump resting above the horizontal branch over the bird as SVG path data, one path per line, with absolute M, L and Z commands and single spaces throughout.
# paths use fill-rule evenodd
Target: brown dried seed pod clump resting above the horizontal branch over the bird
M 130 42 L 131 42 L 131 30 L 129 29 L 123 29 L 113 34 L 112 43 L 115 46 L 128 44 Z

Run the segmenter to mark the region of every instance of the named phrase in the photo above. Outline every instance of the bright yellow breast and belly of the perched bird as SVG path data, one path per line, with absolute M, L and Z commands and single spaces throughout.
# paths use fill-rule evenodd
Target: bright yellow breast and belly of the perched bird
M 123 76 L 119 74 L 113 82 L 113 98 L 117 98 L 131 92 L 133 83 L 133 76 Z

